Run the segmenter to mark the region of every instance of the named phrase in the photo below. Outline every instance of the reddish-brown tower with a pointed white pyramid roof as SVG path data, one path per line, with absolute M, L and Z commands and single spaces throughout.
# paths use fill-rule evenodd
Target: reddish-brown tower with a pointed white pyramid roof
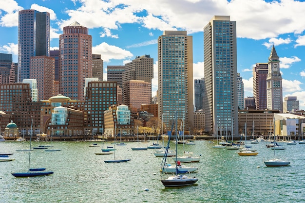
M 59 93 L 84 100 L 85 78 L 92 77 L 92 36 L 74 22 L 59 36 Z

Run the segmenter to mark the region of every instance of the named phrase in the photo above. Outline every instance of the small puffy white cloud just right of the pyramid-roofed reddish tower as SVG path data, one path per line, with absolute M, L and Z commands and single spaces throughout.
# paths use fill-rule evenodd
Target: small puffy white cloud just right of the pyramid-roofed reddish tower
M 130 51 L 123 50 L 119 47 L 109 45 L 103 42 L 92 48 L 92 52 L 96 54 L 101 54 L 104 62 L 109 62 L 111 59 L 126 59 L 133 57 Z

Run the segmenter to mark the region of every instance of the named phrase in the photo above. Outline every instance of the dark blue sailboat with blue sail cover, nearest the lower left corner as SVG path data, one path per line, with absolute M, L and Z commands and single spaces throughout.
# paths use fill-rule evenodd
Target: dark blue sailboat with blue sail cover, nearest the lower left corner
M 33 118 L 32 118 L 32 126 L 31 129 L 33 129 Z M 32 145 L 32 134 L 33 131 L 31 132 L 30 136 L 30 149 Z M 11 173 L 15 177 L 34 177 L 34 176 L 41 176 L 41 175 L 50 175 L 53 174 L 53 171 L 47 171 L 45 168 L 30 168 L 31 164 L 31 151 L 29 151 L 29 166 L 28 170 L 24 172 L 17 172 L 17 173 Z

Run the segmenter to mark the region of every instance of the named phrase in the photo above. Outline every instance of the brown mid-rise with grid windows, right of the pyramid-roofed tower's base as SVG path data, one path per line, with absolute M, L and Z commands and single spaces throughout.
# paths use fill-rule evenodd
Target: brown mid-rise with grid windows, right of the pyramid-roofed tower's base
M 94 129 L 95 133 L 102 133 L 104 126 L 104 111 L 111 105 L 117 104 L 116 101 L 116 82 L 91 81 L 88 82 L 85 101 L 88 105 L 87 128 Z

